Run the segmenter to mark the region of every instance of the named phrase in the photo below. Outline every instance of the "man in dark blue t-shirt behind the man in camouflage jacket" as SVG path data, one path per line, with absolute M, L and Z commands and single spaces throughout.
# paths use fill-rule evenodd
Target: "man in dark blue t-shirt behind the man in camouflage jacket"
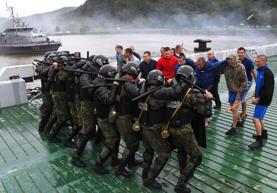
M 255 81 L 256 81 L 257 74 L 256 74 L 256 71 L 255 71 L 253 62 L 250 59 L 245 57 L 246 52 L 245 52 L 244 47 L 240 47 L 238 49 L 238 56 L 239 56 L 239 60 L 241 61 L 241 63 L 245 67 L 245 71 L 246 71 L 246 75 L 247 75 L 247 79 L 248 79 L 247 90 L 242 95 L 242 99 L 241 99 L 243 101 L 243 100 L 245 100 L 245 97 L 246 97 L 248 91 L 250 90 L 250 88 L 252 86 L 252 80 L 253 80 L 252 74 L 253 74 L 253 77 L 254 77 Z M 244 102 L 244 103 L 242 103 L 242 113 L 240 114 L 240 118 L 244 119 L 246 116 L 247 116 L 246 102 Z

